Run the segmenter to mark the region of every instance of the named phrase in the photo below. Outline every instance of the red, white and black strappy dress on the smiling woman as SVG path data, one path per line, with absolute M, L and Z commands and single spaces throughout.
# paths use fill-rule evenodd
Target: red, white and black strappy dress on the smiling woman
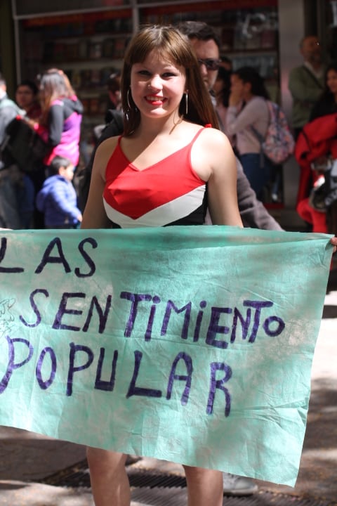
M 103 202 L 115 228 L 202 225 L 206 183 L 194 172 L 192 141 L 163 160 L 138 170 L 121 150 L 121 136 L 105 172 Z

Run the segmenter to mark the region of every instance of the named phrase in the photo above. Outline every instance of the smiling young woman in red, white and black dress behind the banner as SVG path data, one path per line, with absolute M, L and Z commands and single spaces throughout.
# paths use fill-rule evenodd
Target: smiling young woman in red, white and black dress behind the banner
M 206 191 L 214 224 L 242 226 L 234 154 L 222 132 L 206 128 L 218 124 L 189 41 L 173 27 L 136 34 L 121 94 L 124 135 L 98 147 L 81 228 L 202 224 Z M 130 505 L 125 460 L 88 448 L 96 506 Z M 184 467 L 190 506 L 223 504 L 220 471 Z

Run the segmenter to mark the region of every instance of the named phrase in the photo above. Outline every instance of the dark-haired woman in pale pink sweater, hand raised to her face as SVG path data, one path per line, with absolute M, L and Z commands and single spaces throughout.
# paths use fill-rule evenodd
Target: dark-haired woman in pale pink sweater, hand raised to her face
M 259 199 L 271 176 L 271 165 L 261 154 L 260 141 L 254 129 L 265 136 L 269 98 L 263 79 L 252 67 L 241 67 L 231 76 L 231 93 L 226 116 L 226 132 L 235 136 L 235 148 L 244 173 Z

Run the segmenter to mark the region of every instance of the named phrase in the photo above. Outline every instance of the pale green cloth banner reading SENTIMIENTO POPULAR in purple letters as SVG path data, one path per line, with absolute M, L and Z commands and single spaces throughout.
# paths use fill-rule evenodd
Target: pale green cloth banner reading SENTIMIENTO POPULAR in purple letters
M 295 484 L 329 235 L 1 234 L 0 424 Z

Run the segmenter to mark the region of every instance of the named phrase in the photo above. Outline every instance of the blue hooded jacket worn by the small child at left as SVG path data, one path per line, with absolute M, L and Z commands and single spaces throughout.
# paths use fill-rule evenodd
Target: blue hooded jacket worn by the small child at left
M 58 174 L 44 181 L 37 194 L 37 209 L 44 213 L 44 224 L 48 228 L 77 226 L 77 216 L 81 214 L 72 182 Z

